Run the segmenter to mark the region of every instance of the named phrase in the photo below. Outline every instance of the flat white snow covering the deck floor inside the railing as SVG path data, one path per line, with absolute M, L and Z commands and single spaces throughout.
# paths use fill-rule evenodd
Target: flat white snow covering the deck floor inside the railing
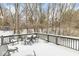
M 34 43 L 33 45 L 23 45 L 23 42 L 19 42 L 19 44 L 14 46 L 18 47 L 19 52 L 11 53 L 11 56 L 34 55 L 33 50 L 36 56 L 79 56 L 78 51 L 48 43 L 41 39 L 39 39 L 38 43 Z

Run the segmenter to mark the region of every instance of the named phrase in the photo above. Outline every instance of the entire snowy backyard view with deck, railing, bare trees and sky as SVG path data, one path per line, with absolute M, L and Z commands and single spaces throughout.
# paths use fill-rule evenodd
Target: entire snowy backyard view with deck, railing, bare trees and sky
M 0 56 L 79 56 L 79 4 L 0 3 Z

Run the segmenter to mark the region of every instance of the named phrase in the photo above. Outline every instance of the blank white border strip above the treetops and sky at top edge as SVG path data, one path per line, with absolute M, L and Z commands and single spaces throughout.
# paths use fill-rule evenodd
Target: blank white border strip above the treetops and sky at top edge
M 1 3 L 79 3 L 79 0 L 0 0 Z

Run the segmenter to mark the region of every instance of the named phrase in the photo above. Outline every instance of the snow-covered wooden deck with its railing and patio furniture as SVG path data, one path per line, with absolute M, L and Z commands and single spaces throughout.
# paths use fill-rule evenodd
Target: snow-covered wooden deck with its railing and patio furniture
M 29 36 L 31 37 L 29 38 Z M 77 53 L 79 53 L 79 37 L 62 36 L 46 33 L 30 33 L 30 34 L 1 36 L 0 38 L 1 38 L 0 48 L 4 45 L 7 45 L 8 48 L 13 47 L 18 48 L 19 52 L 17 51 L 15 51 L 16 53 L 11 52 L 12 53 L 11 56 L 78 55 Z M 4 48 L 5 51 L 8 48 L 5 47 Z M 28 54 L 29 52 L 31 52 L 32 54 Z

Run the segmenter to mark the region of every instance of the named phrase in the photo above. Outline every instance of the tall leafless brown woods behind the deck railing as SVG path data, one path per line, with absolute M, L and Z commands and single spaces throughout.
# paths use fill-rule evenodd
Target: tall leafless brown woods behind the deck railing
M 79 9 L 75 3 L 0 4 L 0 30 L 20 34 L 24 29 L 79 36 Z

